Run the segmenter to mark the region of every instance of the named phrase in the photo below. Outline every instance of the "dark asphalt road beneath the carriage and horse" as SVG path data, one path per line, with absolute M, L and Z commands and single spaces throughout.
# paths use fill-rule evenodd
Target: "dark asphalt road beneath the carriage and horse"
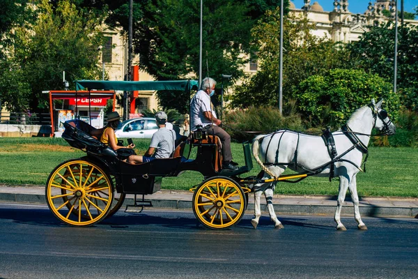
M 417 278 L 418 220 L 364 218 L 346 232 L 329 217 L 247 214 L 229 230 L 192 211 L 120 211 L 69 227 L 47 206 L 0 204 L 0 278 Z

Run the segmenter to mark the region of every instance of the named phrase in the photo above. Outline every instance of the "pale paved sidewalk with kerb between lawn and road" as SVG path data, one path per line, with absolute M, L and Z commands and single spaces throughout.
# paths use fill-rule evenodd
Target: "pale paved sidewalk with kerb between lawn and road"
M 138 196 L 141 198 L 141 196 Z M 155 208 L 192 210 L 193 193 L 182 190 L 161 190 L 145 198 Z M 133 204 L 134 195 L 127 195 L 125 204 Z M 0 202 L 46 204 L 45 187 L 39 186 L 0 186 Z M 264 196 L 261 202 L 265 204 Z M 274 209 L 278 215 L 333 216 L 336 209 L 336 196 L 288 196 L 274 195 Z M 261 206 L 266 210 L 265 206 Z M 359 204 L 362 217 L 418 218 L 418 198 L 364 197 Z M 144 210 L 150 210 L 146 208 Z M 254 195 L 249 195 L 246 213 L 254 212 Z M 347 195 L 341 211 L 342 216 L 353 216 L 353 202 Z

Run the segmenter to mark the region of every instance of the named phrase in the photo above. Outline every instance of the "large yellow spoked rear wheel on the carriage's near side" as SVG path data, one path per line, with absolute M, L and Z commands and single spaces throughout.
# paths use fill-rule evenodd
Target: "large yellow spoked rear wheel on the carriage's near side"
M 70 160 L 56 167 L 49 175 L 45 195 L 52 213 L 77 227 L 100 222 L 114 197 L 109 176 L 86 160 Z

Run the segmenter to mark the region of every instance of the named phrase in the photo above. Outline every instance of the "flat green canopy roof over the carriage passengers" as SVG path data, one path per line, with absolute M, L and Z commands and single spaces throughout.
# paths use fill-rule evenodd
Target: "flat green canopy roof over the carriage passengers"
M 116 82 L 111 80 L 77 80 L 76 90 L 121 90 L 121 91 L 141 91 L 141 90 L 180 90 L 189 91 L 193 86 L 198 88 L 196 80 L 167 80 L 155 82 Z

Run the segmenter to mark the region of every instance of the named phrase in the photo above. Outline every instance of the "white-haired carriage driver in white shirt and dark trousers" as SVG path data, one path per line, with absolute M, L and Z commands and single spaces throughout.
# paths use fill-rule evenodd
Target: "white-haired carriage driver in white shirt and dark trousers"
M 223 169 L 235 170 L 238 164 L 232 160 L 231 136 L 220 128 L 222 121 L 217 119 L 216 113 L 210 106 L 210 97 L 215 93 L 216 82 L 211 77 L 206 77 L 201 84 L 201 90 L 192 98 L 190 102 L 191 130 L 196 130 L 197 126 L 206 129 L 208 135 L 217 135 L 222 142 L 222 156 L 224 162 Z M 206 128 L 206 126 L 209 126 Z

